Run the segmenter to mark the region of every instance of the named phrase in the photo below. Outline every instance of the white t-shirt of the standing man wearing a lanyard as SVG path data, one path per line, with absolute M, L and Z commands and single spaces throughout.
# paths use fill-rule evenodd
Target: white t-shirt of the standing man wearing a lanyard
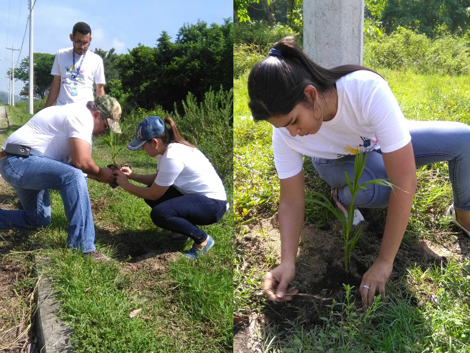
M 74 53 L 74 67 L 72 53 L 73 48 L 65 48 L 55 54 L 51 75 L 61 77 L 57 105 L 77 102 L 86 104 L 93 100 L 93 83 L 106 83 L 101 56 L 91 50 L 83 55 Z

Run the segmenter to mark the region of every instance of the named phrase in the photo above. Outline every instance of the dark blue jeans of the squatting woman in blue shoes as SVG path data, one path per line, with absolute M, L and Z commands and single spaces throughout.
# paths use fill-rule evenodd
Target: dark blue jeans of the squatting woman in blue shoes
M 160 228 L 188 236 L 196 244 L 207 239 L 207 234 L 196 225 L 211 225 L 224 215 L 227 201 L 201 195 L 183 195 L 174 186 L 157 201 L 145 200 L 152 208 L 150 218 Z

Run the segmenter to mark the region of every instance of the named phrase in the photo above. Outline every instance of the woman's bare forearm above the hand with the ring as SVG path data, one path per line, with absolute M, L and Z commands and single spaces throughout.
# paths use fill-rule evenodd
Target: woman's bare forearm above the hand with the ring
M 393 181 L 392 181 L 393 183 Z M 407 228 L 413 198 L 415 196 L 415 181 L 393 183 L 398 186 L 390 192 L 387 219 L 385 221 L 384 236 L 380 244 L 378 260 L 392 264 L 397 255 L 403 234 Z M 400 190 L 400 189 L 402 190 Z M 406 193 L 407 191 L 408 193 Z

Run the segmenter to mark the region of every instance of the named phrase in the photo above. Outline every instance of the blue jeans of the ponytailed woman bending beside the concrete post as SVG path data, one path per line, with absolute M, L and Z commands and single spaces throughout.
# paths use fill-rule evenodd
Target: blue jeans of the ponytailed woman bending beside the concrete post
M 411 144 L 416 167 L 447 161 L 452 184 L 454 207 L 470 210 L 470 127 L 454 121 L 410 121 Z M 313 167 L 331 186 L 338 188 L 338 201 L 351 203 L 351 193 L 346 184 L 345 171 L 352 179 L 354 158 L 347 156 L 336 160 L 312 158 Z M 371 179 L 387 178 L 380 150 L 368 153 L 368 160 L 360 183 Z M 390 187 L 371 184 L 360 190 L 354 206 L 374 209 L 387 207 Z

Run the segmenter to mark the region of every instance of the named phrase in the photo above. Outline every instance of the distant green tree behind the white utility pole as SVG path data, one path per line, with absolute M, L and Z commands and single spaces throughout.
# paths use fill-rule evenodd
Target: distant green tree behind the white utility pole
M 49 93 L 54 77 L 51 75 L 52 64 L 54 64 L 54 54 L 34 53 L 33 54 L 33 95 L 34 98 L 43 98 Z M 29 94 L 29 56 L 26 56 L 15 69 L 15 80 L 25 83 L 20 91 L 20 96 L 28 97 Z

